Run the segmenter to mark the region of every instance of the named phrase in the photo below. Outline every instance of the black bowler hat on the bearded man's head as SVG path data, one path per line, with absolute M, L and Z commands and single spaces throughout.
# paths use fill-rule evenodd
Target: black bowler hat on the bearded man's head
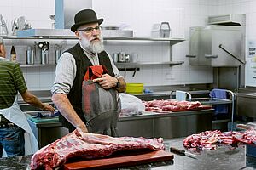
M 76 31 L 79 26 L 82 26 L 84 24 L 90 24 L 90 23 L 94 23 L 97 22 L 99 23 L 99 25 L 102 24 L 103 19 L 97 19 L 96 13 L 94 12 L 94 10 L 91 9 L 84 9 L 79 11 L 75 17 L 74 17 L 74 22 L 75 24 L 73 26 L 71 26 L 71 31 Z

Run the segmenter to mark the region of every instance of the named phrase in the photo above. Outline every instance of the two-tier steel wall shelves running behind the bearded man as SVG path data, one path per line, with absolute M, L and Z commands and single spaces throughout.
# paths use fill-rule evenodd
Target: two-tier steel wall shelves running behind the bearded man
M 43 31 L 43 32 L 42 32 Z M 42 35 L 40 34 L 42 33 Z M 16 36 L 3 36 L 3 39 L 5 40 L 5 43 L 8 45 L 20 45 L 20 43 L 23 44 L 34 44 L 35 42 L 41 42 L 41 41 L 48 41 L 49 43 L 57 43 L 65 40 L 68 40 L 67 43 L 73 44 L 74 42 L 77 42 L 77 37 L 73 36 L 73 34 L 70 34 L 69 31 L 64 30 L 63 32 L 58 33 L 59 31 L 52 32 L 49 34 L 48 30 L 38 30 L 36 32 L 33 32 L 31 36 L 27 37 L 16 37 Z M 31 33 L 31 32 L 30 32 Z M 41 35 L 41 36 L 40 36 Z M 139 70 L 140 65 L 182 65 L 183 61 L 172 61 L 172 45 L 183 42 L 185 39 L 183 38 L 154 38 L 154 37 L 103 37 L 105 42 L 108 41 L 151 41 L 151 42 L 169 42 L 170 43 L 170 61 L 165 62 L 138 62 L 138 63 L 116 63 L 119 67 L 122 67 L 121 69 L 126 70 L 126 68 L 129 68 L 128 70 L 137 71 Z M 54 64 L 51 65 L 20 65 L 20 67 L 38 67 L 38 66 L 55 66 Z M 128 71 L 127 70 L 127 71 Z

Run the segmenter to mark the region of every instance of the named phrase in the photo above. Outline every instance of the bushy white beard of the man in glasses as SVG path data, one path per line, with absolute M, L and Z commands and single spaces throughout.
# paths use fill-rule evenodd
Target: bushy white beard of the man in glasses
M 84 49 L 88 49 L 88 50 L 90 50 L 90 52 L 92 52 L 94 54 L 98 54 L 98 53 L 101 53 L 102 51 L 104 51 L 103 37 L 99 36 L 98 38 L 100 39 L 100 41 L 90 42 L 89 40 L 87 40 L 86 38 L 83 37 L 80 40 L 80 44 Z

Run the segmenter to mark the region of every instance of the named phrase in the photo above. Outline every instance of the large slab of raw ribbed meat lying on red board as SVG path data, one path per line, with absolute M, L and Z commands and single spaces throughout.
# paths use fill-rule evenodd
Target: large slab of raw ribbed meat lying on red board
M 108 135 L 74 130 L 38 150 L 32 156 L 30 167 L 50 170 L 61 167 L 68 159 L 76 156 L 93 159 L 110 156 L 119 150 L 137 149 L 165 150 L 165 146 L 162 138 L 113 138 Z

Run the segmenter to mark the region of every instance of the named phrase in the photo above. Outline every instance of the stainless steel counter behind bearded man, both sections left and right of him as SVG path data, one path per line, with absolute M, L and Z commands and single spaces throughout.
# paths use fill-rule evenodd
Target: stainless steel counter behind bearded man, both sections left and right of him
M 177 138 L 212 129 L 213 109 L 201 111 L 180 111 L 168 114 L 144 112 L 137 116 L 120 116 L 119 136 L 133 136 L 164 139 Z M 38 139 L 39 148 L 54 142 L 68 133 L 61 122 L 32 122 L 28 120 Z

